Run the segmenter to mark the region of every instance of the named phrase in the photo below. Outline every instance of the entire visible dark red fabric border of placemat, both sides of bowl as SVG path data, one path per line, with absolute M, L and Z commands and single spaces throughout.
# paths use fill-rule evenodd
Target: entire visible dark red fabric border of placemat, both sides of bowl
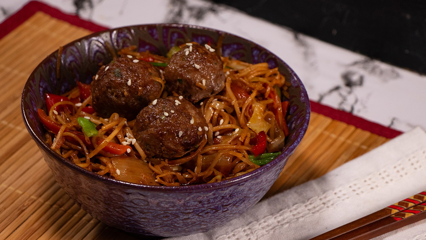
M 29 17 L 35 14 L 38 11 L 42 11 L 46 14 L 49 14 L 52 17 L 58 18 L 60 20 L 64 20 L 72 25 L 79 26 L 85 29 L 88 29 L 93 32 L 102 31 L 108 29 L 105 26 L 100 26 L 95 23 L 86 21 L 81 19 L 76 15 L 66 14 L 61 12 L 58 9 L 55 9 L 51 6 L 46 5 L 45 3 L 41 3 L 38 1 L 31 1 L 23 6 L 15 14 L 11 15 L 9 18 L 0 23 L 0 38 L 8 35 L 13 29 L 20 26 L 23 22 L 25 22 Z M 400 135 L 402 132 L 393 130 L 389 127 L 385 127 L 383 125 L 367 121 L 360 117 L 354 116 L 351 113 L 347 113 L 342 110 L 336 110 L 334 108 L 319 104 L 317 102 L 311 101 L 311 110 L 315 113 L 320 113 L 322 115 L 328 116 L 331 119 L 335 119 L 338 121 L 343 121 L 347 124 L 354 125 L 357 128 L 369 131 L 371 133 L 386 137 L 386 138 L 394 138 Z

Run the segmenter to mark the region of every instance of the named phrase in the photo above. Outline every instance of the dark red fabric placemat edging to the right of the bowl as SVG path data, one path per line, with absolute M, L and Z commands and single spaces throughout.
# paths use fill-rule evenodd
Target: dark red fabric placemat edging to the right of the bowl
M 320 113 L 324 116 L 328 116 L 331 119 L 343 121 L 347 124 L 354 125 L 357 128 L 367 130 L 370 133 L 374 133 L 386 138 L 394 138 L 402 133 L 398 130 L 385 127 L 378 123 L 374 123 L 366 119 L 354 116 L 351 113 L 342 110 L 336 110 L 332 107 L 328 107 L 314 101 L 311 101 L 311 111 L 315 113 Z

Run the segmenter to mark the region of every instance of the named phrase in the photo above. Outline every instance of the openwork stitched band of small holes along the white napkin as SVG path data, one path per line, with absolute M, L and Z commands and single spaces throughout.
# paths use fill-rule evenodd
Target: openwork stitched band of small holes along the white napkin
M 422 159 L 422 160 L 420 160 Z M 426 161 L 426 150 L 420 149 L 408 156 L 400 158 L 395 164 L 383 166 L 379 173 L 371 173 L 365 178 L 360 178 L 351 184 L 343 185 L 336 188 L 334 191 L 327 191 L 324 194 L 311 198 L 304 203 L 298 203 L 290 208 L 285 208 L 277 211 L 258 221 L 250 223 L 248 226 L 236 228 L 231 234 L 219 236 L 219 240 L 258 240 L 264 239 L 265 235 L 273 234 L 277 228 L 283 228 L 291 223 L 302 220 L 319 214 L 323 211 L 328 211 L 339 204 L 344 204 L 344 201 L 355 197 L 356 195 L 365 194 L 374 191 L 375 188 L 392 184 L 397 181 L 394 176 L 406 178 L 412 175 L 415 171 L 423 170 L 423 161 Z M 398 178 L 399 179 L 399 178 Z M 420 240 L 426 240 L 421 238 Z

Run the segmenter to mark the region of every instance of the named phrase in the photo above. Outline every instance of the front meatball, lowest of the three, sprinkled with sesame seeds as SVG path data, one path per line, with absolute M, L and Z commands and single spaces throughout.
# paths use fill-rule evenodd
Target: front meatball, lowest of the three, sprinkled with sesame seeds
M 182 96 L 156 99 L 136 117 L 133 135 L 149 157 L 176 158 L 207 138 L 207 121 Z

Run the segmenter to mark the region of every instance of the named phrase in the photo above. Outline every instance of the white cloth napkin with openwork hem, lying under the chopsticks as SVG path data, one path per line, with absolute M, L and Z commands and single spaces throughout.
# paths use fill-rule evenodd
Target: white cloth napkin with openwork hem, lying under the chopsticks
M 308 240 L 426 190 L 426 133 L 404 133 L 225 226 L 170 240 Z M 426 240 L 426 220 L 375 240 Z

